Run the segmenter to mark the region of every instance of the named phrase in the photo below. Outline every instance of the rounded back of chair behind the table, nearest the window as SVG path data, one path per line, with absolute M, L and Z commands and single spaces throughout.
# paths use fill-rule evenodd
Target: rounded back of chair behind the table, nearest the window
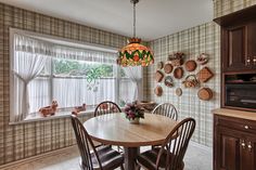
M 104 101 L 97 106 L 94 117 L 113 113 L 121 113 L 120 107 L 114 102 Z

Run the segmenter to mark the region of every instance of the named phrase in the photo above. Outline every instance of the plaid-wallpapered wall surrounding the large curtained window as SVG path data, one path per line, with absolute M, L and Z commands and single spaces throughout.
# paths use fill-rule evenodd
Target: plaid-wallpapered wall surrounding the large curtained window
M 127 42 L 123 36 L 0 3 L 0 165 L 75 144 L 68 118 L 9 126 L 10 27 L 114 48 Z

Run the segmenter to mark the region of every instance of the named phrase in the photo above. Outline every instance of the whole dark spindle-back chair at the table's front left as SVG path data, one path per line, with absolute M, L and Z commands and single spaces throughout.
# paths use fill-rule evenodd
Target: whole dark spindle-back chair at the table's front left
M 72 115 L 72 125 L 81 156 L 82 170 L 114 170 L 118 167 L 124 170 L 124 157 L 118 152 L 105 145 L 95 148 L 85 127 L 75 115 Z

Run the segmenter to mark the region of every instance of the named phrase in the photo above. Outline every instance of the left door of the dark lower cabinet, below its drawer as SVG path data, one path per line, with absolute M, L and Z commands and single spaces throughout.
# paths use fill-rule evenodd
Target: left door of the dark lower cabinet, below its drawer
M 243 170 L 240 153 L 244 141 L 241 140 L 241 134 L 228 128 L 216 127 L 216 135 L 215 170 Z

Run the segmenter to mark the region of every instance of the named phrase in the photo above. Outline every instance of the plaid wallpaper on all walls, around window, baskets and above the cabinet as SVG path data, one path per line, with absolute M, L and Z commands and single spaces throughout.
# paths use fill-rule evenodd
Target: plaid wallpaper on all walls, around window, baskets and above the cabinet
M 215 0 L 215 17 L 255 3 L 256 0 Z M 115 48 L 126 44 L 126 38 L 123 36 L 0 3 L 0 165 L 75 144 L 67 118 L 9 126 L 11 106 L 9 104 L 9 27 Z M 207 35 L 206 42 L 204 38 L 201 38 L 205 34 Z M 144 71 L 145 82 L 149 82 L 149 86 L 144 88 L 144 94 L 148 94 L 149 100 L 174 102 L 181 117 L 195 117 L 197 127 L 193 140 L 212 145 L 209 112 L 210 108 L 219 106 L 219 27 L 208 23 L 154 40 L 150 44 L 155 50 L 156 63 L 166 60 L 167 54 L 176 51 L 183 51 L 192 58 L 200 52 L 210 54 L 209 67 L 217 76 L 206 84 L 215 91 L 213 101 L 199 101 L 195 96 L 196 90 L 184 90 L 184 94 L 177 97 L 174 94 L 175 88 L 164 89 L 163 97 L 156 97 L 153 94 L 153 88 L 156 84 L 153 80 L 155 65 Z M 176 87 L 180 86 L 180 82 L 176 83 Z

